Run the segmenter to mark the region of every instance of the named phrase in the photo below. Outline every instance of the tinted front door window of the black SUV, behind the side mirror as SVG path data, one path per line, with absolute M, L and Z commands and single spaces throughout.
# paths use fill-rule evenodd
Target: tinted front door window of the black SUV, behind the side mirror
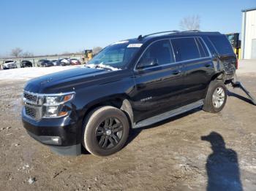
M 148 59 L 156 59 L 158 65 L 173 63 L 174 59 L 173 52 L 170 47 L 170 41 L 161 40 L 151 44 L 140 58 L 140 63 L 143 63 Z

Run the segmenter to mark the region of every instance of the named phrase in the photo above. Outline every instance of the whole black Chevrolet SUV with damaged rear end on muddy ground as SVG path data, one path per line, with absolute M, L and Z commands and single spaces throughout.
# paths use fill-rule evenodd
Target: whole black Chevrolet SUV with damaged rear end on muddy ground
M 162 32 L 163 33 L 163 32 Z M 237 58 L 219 32 L 167 31 L 116 42 L 80 68 L 31 79 L 23 126 L 54 152 L 111 155 L 130 128 L 202 107 L 217 113 Z

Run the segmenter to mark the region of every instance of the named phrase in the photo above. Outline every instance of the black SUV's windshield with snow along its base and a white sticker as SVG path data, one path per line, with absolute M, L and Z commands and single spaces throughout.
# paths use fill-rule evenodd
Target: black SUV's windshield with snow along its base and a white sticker
M 122 69 L 138 52 L 141 46 L 130 46 L 128 41 L 116 42 L 105 47 L 101 52 L 94 56 L 89 61 L 88 65 L 91 66 L 106 66 L 108 68 Z

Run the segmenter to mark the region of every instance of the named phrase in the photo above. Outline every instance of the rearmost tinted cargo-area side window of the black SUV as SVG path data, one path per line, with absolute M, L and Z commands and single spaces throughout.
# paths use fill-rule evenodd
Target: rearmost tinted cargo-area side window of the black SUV
M 208 38 L 220 55 L 233 54 L 233 49 L 225 35 L 208 36 Z

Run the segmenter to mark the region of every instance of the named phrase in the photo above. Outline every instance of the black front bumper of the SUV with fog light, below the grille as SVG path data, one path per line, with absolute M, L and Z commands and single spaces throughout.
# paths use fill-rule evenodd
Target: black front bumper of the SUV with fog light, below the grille
M 23 109 L 22 122 L 32 138 L 50 146 L 53 152 L 61 155 L 80 154 L 82 122 L 79 120 L 66 116 L 35 121 L 26 117 Z

